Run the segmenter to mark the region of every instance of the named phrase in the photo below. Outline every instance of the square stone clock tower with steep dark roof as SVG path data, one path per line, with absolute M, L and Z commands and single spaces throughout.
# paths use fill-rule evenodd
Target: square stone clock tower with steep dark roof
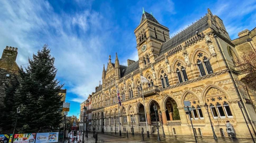
M 162 44 L 170 39 L 169 28 L 161 25 L 152 13 L 142 12 L 139 26 L 134 30 L 137 41 L 139 67 L 144 68 L 155 62 Z

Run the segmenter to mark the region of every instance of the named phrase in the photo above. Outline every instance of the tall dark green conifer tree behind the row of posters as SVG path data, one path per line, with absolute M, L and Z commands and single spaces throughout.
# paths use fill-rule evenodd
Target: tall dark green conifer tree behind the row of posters
M 63 102 L 59 91 L 63 85 L 55 79 L 57 69 L 48 45 L 44 45 L 32 59 L 27 68 L 20 69 L 20 86 L 14 95 L 14 107 L 21 105 L 17 130 L 21 133 L 38 130 L 53 130 L 62 121 L 59 112 Z

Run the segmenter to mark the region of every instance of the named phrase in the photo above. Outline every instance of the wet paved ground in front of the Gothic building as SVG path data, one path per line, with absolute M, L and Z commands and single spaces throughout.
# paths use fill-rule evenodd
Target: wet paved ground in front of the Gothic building
M 95 138 L 92 137 L 93 134 L 89 133 L 88 138 L 85 137 L 85 143 L 95 143 Z M 98 141 L 97 143 L 103 142 L 114 142 L 114 143 L 142 143 L 142 142 L 160 142 L 160 143 L 194 143 L 195 139 L 194 136 L 179 136 L 179 135 L 166 135 L 164 138 L 160 135 L 161 141 L 157 141 L 157 135 L 150 134 L 150 137 L 147 138 L 147 134 L 144 134 L 144 141 L 142 140 L 141 134 L 134 134 L 123 133 L 122 136 L 119 136 L 119 133 L 99 133 L 98 134 Z M 79 137 L 78 137 L 79 140 Z M 82 136 L 81 136 L 82 140 Z M 205 137 L 205 136 L 197 136 L 198 143 L 250 143 L 253 142 L 252 139 L 249 138 L 238 138 L 238 139 L 231 139 L 229 137 L 218 137 L 218 140 L 214 140 L 213 137 Z M 59 139 L 59 143 L 62 143 L 62 139 Z M 68 140 L 65 140 L 64 143 L 68 143 Z M 71 143 L 71 140 L 70 140 Z M 77 141 L 75 141 L 77 143 Z M 81 141 L 82 143 L 82 141 Z

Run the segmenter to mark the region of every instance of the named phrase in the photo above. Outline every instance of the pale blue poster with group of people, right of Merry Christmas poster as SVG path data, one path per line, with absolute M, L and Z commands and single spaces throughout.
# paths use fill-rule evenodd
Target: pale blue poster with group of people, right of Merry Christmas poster
M 35 143 L 58 142 L 59 132 L 37 133 Z

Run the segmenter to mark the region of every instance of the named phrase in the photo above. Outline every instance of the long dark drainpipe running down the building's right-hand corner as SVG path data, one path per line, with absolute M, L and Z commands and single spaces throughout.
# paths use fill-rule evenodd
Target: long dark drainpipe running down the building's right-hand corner
M 239 90 L 238 90 L 238 87 L 237 87 L 237 85 L 236 85 L 236 82 L 235 82 L 235 80 L 234 80 L 234 77 L 233 77 L 233 75 L 232 75 L 232 73 L 231 73 L 231 71 L 230 71 L 230 67 L 229 67 L 229 65 L 227 64 L 227 61 L 226 61 L 226 59 L 225 59 L 225 56 L 224 56 L 224 54 L 223 54 L 223 52 L 222 52 L 222 49 L 221 49 L 221 47 L 220 47 L 220 45 L 219 45 L 219 43 L 218 43 L 218 39 L 217 39 L 218 37 L 217 37 L 216 34 L 214 34 L 213 36 L 214 36 L 214 39 L 215 39 L 215 41 L 216 41 L 216 43 L 217 43 L 217 46 L 218 46 L 218 48 L 219 48 L 219 50 L 220 50 L 220 54 L 221 54 L 221 56 L 222 56 L 222 59 L 223 59 L 224 62 L 225 62 L 226 68 L 227 68 L 228 71 L 229 71 L 229 75 L 230 75 L 231 80 L 232 80 L 232 82 L 233 82 L 233 84 L 234 84 L 234 87 L 235 87 L 235 89 L 236 89 L 236 93 L 238 94 L 238 96 L 239 96 L 239 98 L 240 98 L 241 104 L 242 104 L 242 106 L 243 106 L 243 108 L 244 108 L 244 112 L 245 112 L 245 114 L 246 114 L 246 116 L 247 116 L 247 118 L 248 118 L 248 121 L 249 121 L 250 125 L 252 126 L 254 135 L 256 136 L 256 132 L 255 132 L 255 130 L 254 130 L 254 126 L 253 126 L 252 121 L 250 120 L 249 115 L 248 115 L 248 113 L 247 113 L 247 111 L 246 111 L 246 108 L 245 108 L 245 105 L 244 105 L 244 100 L 243 100 L 243 98 L 242 98 L 242 96 L 241 96 L 241 94 L 240 94 L 240 92 L 239 92 Z

